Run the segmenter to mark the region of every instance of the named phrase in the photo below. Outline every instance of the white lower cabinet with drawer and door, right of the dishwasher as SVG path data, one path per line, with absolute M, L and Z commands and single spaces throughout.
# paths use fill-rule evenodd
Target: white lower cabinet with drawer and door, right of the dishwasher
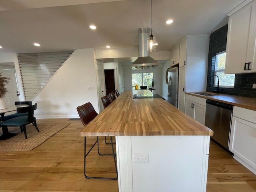
M 234 106 L 229 150 L 256 174 L 256 111 Z

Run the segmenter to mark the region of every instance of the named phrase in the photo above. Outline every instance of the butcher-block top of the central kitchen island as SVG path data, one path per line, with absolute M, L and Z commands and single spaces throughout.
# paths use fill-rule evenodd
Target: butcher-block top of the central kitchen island
M 81 136 L 213 135 L 208 127 L 163 99 L 133 99 L 133 94 L 148 92 L 123 92 L 80 132 Z

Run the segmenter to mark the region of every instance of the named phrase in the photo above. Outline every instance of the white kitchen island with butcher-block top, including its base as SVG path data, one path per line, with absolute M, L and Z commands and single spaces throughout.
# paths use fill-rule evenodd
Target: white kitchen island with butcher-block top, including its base
M 212 130 L 161 98 L 123 92 L 81 136 L 116 136 L 120 192 L 205 192 Z

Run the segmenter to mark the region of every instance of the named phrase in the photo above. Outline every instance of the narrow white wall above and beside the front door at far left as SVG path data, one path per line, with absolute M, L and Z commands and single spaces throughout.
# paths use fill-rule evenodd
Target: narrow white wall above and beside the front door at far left
M 7 63 L 7 62 L 13 62 L 16 70 L 16 78 L 17 78 L 17 84 L 18 89 L 20 93 L 20 100 L 24 101 L 24 92 L 23 92 L 23 85 L 22 85 L 22 78 L 20 74 L 20 66 L 18 61 L 18 55 L 16 53 L 3 53 L 0 54 L 0 63 Z

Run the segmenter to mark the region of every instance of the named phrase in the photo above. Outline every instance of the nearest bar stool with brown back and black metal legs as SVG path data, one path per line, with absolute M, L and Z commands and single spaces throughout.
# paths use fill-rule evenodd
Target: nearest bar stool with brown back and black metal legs
M 93 106 L 91 103 L 86 103 L 83 104 L 81 106 L 78 106 L 76 108 L 80 120 L 82 122 L 82 124 L 84 126 L 86 126 L 88 123 L 90 123 L 91 120 L 93 120 L 98 113 L 94 110 Z M 95 146 L 95 144 L 97 143 L 98 145 L 98 154 L 99 155 L 112 155 L 114 158 L 114 163 L 115 163 L 115 168 L 116 168 L 116 177 L 114 178 L 110 178 L 110 177 L 92 177 L 92 176 L 87 176 L 86 175 L 86 156 L 90 153 L 90 151 L 92 150 L 92 148 Z M 87 179 L 90 178 L 94 178 L 94 179 L 112 179 L 112 180 L 117 180 L 118 176 L 117 176 L 117 164 L 116 164 L 116 153 L 114 152 L 114 146 L 113 146 L 113 142 L 112 142 L 112 137 L 110 136 L 110 143 L 111 143 L 111 147 L 112 147 L 112 153 L 111 154 L 102 154 L 99 152 L 99 138 L 97 136 L 97 140 L 96 142 L 93 144 L 93 146 L 90 148 L 90 150 L 86 153 L 86 137 L 84 137 L 84 177 Z

